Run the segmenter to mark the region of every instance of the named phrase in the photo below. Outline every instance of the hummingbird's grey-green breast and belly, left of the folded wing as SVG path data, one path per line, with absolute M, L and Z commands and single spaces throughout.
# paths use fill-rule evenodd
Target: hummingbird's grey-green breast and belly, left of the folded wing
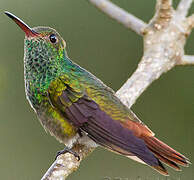
M 44 129 L 61 143 L 71 146 L 76 141 L 75 127 L 51 105 L 47 93 L 41 92 L 29 81 L 26 81 L 25 84 L 27 100 L 38 115 Z

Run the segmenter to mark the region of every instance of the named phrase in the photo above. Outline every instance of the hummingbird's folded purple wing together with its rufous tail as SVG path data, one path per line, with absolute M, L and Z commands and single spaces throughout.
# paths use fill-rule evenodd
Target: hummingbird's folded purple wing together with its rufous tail
M 115 120 L 114 117 L 118 116 L 107 113 L 107 107 L 111 105 L 106 103 L 107 107 L 104 105 L 104 109 L 101 108 L 102 106 L 97 103 L 98 98 L 97 101 L 94 96 L 90 98 L 84 88 L 80 88 L 79 83 L 66 83 L 58 79 L 57 82 L 51 83 L 48 96 L 50 103 L 65 119 L 84 131 L 96 143 L 112 151 L 131 158 L 138 157 L 163 175 L 168 175 L 168 172 L 160 161 L 176 170 L 180 170 L 177 164 L 183 166 L 189 164 L 185 156 L 154 137 L 152 131 L 141 121 L 131 121 L 129 117 L 125 120 Z M 98 97 L 101 98 L 99 94 Z M 113 102 L 115 101 L 111 102 L 112 106 Z M 110 109 L 111 112 L 120 111 L 120 108 L 110 107 Z

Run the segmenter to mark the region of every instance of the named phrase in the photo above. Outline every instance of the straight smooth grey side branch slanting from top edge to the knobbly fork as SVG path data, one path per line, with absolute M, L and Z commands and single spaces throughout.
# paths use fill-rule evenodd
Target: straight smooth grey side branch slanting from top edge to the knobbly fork
M 146 24 L 134 15 L 116 6 L 109 0 L 89 0 L 89 2 L 111 18 L 115 19 L 117 22 L 123 24 L 126 28 L 142 35 L 142 31 L 146 27 Z

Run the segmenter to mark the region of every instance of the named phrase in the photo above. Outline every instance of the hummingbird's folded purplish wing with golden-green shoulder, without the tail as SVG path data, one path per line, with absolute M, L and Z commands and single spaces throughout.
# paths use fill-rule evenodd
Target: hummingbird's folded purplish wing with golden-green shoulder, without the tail
M 119 121 L 111 118 L 84 91 L 67 84 L 54 83 L 48 90 L 51 104 L 75 127 L 84 131 L 96 143 L 127 156 L 137 156 L 151 166 L 159 161 L 144 140 L 134 135 Z

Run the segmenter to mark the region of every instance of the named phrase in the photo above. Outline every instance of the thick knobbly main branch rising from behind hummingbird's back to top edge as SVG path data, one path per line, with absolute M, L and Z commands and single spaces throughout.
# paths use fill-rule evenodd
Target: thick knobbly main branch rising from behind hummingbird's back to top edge
M 117 91 L 128 107 L 184 54 L 185 35 L 180 24 L 174 23 L 174 16 L 171 0 L 157 1 L 156 13 L 144 31 L 144 55 L 136 71 Z

